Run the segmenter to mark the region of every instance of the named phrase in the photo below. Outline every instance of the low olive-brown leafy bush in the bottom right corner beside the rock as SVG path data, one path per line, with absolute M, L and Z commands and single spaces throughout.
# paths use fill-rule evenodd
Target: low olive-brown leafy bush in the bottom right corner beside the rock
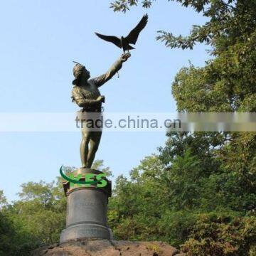
M 188 255 L 248 255 L 255 250 L 256 218 L 203 214 L 183 245 Z

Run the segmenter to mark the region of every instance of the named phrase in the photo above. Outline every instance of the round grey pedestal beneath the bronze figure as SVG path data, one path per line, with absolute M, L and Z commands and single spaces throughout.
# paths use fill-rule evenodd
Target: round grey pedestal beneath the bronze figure
M 102 174 L 93 169 L 79 169 L 71 176 L 81 175 L 80 181 L 85 180 L 85 174 Z M 111 196 L 111 181 L 107 186 L 98 188 L 97 183 L 90 186 L 63 182 L 67 196 L 66 228 L 60 234 L 60 242 L 76 238 L 112 239 L 112 232 L 107 226 L 107 203 Z

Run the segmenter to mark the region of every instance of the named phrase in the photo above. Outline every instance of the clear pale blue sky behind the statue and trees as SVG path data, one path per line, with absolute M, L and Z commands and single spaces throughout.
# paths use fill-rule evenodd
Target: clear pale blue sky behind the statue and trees
M 105 73 L 122 50 L 94 32 L 125 36 L 145 13 L 149 23 L 136 50 L 119 78 L 100 88 L 105 111 L 175 112 L 171 82 L 188 61 L 204 65 L 207 47 L 166 48 L 156 41 L 156 31 L 188 35 L 192 25 L 206 18 L 173 1 L 156 1 L 151 9 L 132 8 L 127 14 L 109 7 L 108 0 L 1 1 L 0 112 L 77 111 L 70 100 L 73 60 L 83 63 L 92 77 Z M 80 132 L 0 132 L 0 190 L 11 202 L 18 198 L 21 183 L 53 181 L 62 164 L 80 167 L 80 139 Z M 129 176 L 165 141 L 163 131 L 105 132 L 95 159 L 103 159 L 114 178 Z

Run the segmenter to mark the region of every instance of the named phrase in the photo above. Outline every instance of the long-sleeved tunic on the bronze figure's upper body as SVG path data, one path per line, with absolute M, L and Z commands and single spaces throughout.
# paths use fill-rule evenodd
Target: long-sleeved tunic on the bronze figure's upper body
M 110 80 L 120 68 L 122 68 L 122 60 L 119 58 L 107 73 L 88 80 L 87 85 L 75 85 L 73 87 L 73 102 L 75 102 L 79 107 L 82 107 L 82 112 L 101 112 L 102 102 L 96 101 L 97 97 L 100 96 L 98 87 Z

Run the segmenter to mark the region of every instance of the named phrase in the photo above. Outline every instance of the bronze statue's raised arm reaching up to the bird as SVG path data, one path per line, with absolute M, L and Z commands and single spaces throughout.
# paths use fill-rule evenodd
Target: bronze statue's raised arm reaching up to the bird
M 124 53 L 122 54 L 111 66 L 109 70 L 107 70 L 107 73 L 98 76 L 97 78 L 92 78 L 89 81 L 92 82 L 92 84 L 96 85 L 97 87 L 100 87 L 105 84 L 108 80 L 110 80 L 117 72 L 122 68 L 122 63 L 127 61 L 127 59 L 131 56 L 130 53 Z

